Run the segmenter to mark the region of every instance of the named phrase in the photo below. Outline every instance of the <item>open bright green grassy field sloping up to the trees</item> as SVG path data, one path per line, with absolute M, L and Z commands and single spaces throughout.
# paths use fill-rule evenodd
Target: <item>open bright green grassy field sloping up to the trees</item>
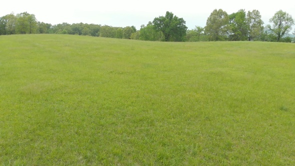
M 295 44 L 0 36 L 1 165 L 295 165 Z

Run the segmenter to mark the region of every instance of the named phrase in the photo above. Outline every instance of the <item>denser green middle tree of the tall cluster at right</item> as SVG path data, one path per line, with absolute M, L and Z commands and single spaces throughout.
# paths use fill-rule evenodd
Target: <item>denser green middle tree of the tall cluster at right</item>
M 244 9 L 240 9 L 237 12 L 230 14 L 229 26 L 231 34 L 229 40 L 243 41 L 247 39 L 248 26 L 246 23 L 246 12 Z

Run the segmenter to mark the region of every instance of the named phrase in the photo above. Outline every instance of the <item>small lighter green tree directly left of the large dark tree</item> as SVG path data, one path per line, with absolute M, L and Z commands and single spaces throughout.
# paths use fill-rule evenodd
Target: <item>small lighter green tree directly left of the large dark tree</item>
M 152 22 L 149 21 L 146 26 L 141 25 L 139 29 L 139 39 L 156 41 L 161 39 L 161 32 L 156 31 Z

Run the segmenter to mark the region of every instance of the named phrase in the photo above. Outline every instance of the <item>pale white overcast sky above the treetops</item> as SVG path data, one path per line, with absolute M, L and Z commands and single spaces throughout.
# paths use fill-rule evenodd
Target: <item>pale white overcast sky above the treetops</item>
M 262 20 L 268 24 L 269 18 L 278 10 L 286 11 L 295 19 L 295 0 L 3 0 L 0 16 L 28 12 L 40 22 L 58 24 L 94 23 L 110 26 L 131 26 L 137 29 L 154 17 L 172 12 L 186 21 L 188 29 L 205 26 L 207 17 L 214 9 L 225 10 L 228 14 L 239 9 L 257 9 Z

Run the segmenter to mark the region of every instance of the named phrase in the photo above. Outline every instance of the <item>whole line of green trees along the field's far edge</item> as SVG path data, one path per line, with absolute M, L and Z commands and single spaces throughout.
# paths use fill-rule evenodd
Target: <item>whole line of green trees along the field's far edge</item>
M 0 17 L 0 35 L 57 33 L 151 41 L 292 41 L 290 36 L 285 35 L 294 25 L 290 14 L 279 10 L 269 22 L 271 24 L 263 26 L 258 10 L 246 12 L 240 9 L 227 14 L 222 9 L 214 9 L 204 27 L 195 26 L 188 30 L 183 18 L 167 11 L 164 16 L 155 17 L 137 30 L 135 26 L 113 27 L 82 22 L 51 25 L 37 21 L 34 14 L 22 12 Z

